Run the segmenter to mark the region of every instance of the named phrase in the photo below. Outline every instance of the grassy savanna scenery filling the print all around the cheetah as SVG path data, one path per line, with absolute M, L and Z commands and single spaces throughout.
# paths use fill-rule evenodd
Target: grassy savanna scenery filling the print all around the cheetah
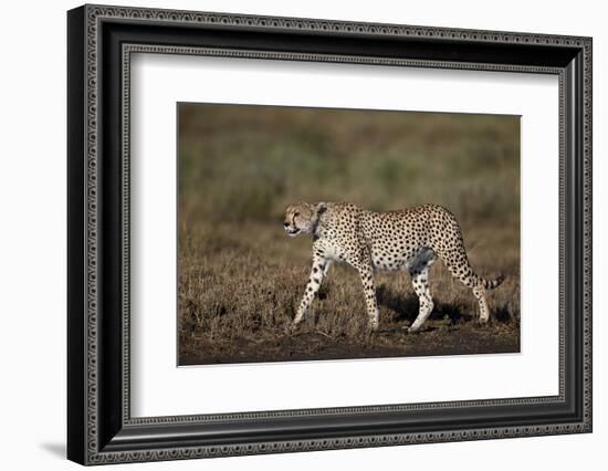
M 510 116 L 179 105 L 180 365 L 520 350 L 520 122 Z M 440 261 L 434 310 L 418 334 L 409 275 L 376 275 L 380 328 L 370 335 L 360 281 L 334 264 L 306 320 L 289 333 L 306 285 L 311 237 L 289 238 L 291 202 L 374 210 L 433 202 L 459 219 L 488 292 Z

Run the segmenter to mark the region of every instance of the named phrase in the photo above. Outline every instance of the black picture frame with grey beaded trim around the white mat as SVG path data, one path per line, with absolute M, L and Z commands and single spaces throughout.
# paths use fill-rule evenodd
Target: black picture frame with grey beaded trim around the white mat
M 591 40 L 84 6 L 67 14 L 67 457 L 82 464 L 591 431 Z M 133 52 L 557 74 L 560 388 L 555 397 L 132 418 Z

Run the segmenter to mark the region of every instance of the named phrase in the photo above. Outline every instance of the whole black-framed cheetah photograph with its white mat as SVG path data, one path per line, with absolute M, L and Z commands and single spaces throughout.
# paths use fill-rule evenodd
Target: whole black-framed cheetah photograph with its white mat
M 67 13 L 67 456 L 591 431 L 591 39 Z

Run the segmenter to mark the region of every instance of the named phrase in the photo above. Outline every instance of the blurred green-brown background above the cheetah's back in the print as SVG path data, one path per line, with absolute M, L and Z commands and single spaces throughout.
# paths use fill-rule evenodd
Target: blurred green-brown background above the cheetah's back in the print
M 180 104 L 180 206 L 186 220 L 269 220 L 298 200 L 434 202 L 515 222 L 518 149 L 514 116 Z

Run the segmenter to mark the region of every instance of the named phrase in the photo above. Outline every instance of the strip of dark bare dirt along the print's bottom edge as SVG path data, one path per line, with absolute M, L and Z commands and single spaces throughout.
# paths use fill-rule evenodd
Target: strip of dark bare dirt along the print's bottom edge
M 400 356 L 471 355 L 520 352 L 516 323 L 430 320 L 422 332 L 408 334 L 409 322 L 394 323 L 371 334 L 367 342 L 346 335 L 333 338 L 321 332 L 262 337 L 237 337 L 228 343 L 195 341 L 180 365 L 259 363 Z

